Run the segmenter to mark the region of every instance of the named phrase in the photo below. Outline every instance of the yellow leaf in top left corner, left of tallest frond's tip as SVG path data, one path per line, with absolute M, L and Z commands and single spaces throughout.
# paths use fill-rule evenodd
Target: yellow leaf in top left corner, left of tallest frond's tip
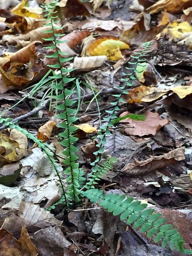
M 18 15 L 18 16 L 23 16 L 23 17 L 30 17 L 34 19 L 39 19 L 40 14 L 42 13 L 42 9 L 40 7 L 25 7 L 25 0 L 22 0 L 22 3 L 18 4 L 15 6 L 11 12 Z

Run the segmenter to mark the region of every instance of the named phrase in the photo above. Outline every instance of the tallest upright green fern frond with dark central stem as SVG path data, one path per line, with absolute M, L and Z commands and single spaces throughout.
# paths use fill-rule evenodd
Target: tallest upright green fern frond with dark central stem
M 69 90 L 66 88 L 66 84 L 73 81 L 75 78 L 69 78 L 66 75 L 64 75 L 67 72 L 72 71 L 72 69 L 68 70 L 66 68 L 62 67 L 62 63 L 71 60 L 72 58 L 63 58 L 63 55 L 66 55 L 66 53 L 61 52 L 61 50 L 58 47 L 58 44 L 65 43 L 65 41 L 60 41 L 57 39 L 60 35 L 59 33 L 56 33 L 56 29 L 62 29 L 62 27 L 57 27 L 55 23 L 59 22 L 60 20 L 56 19 L 58 16 L 54 16 L 57 11 L 55 11 L 56 3 L 51 4 L 43 4 L 42 8 L 44 9 L 46 18 L 45 20 L 50 21 L 49 25 L 52 26 L 52 29 L 49 31 L 45 31 L 45 33 L 52 33 L 53 36 L 50 38 L 43 38 L 46 41 L 51 41 L 53 44 L 51 46 L 47 46 L 47 49 L 53 49 L 54 53 L 51 55 L 46 55 L 47 58 L 55 58 L 56 64 L 54 65 L 48 65 L 50 68 L 56 68 L 59 70 L 59 73 L 54 76 L 57 79 L 60 79 L 60 82 L 54 85 L 54 89 L 58 91 L 58 95 L 54 98 L 59 100 L 62 100 L 63 103 L 60 105 L 55 106 L 56 109 L 61 111 L 61 114 L 57 115 L 58 118 L 63 120 L 63 122 L 59 125 L 60 128 L 64 129 L 64 132 L 61 132 L 60 138 L 62 138 L 62 141 L 60 141 L 60 144 L 65 147 L 65 150 L 62 152 L 63 155 L 66 156 L 66 159 L 63 161 L 63 163 L 66 165 L 66 168 L 64 170 L 64 173 L 68 176 L 67 182 L 70 184 L 68 186 L 68 191 L 66 193 L 67 198 L 69 201 L 79 201 L 79 164 L 76 162 L 78 159 L 78 156 L 76 156 L 76 151 L 78 151 L 78 148 L 74 146 L 74 143 L 78 140 L 78 138 L 73 136 L 73 133 L 78 129 L 76 126 L 72 126 L 73 122 L 78 120 L 77 117 L 72 116 L 76 110 L 70 108 L 70 106 L 74 103 L 76 103 L 75 100 L 70 100 L 67 97 L 73 94 L 75 91 Z M 47 25 L 47 24 L 46 24 Z

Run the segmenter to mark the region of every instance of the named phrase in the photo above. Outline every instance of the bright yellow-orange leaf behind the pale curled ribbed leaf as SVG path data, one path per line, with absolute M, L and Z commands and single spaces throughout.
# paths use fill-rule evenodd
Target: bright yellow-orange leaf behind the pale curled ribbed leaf
M 115 56 L 115 59 L 119 60 L 123 57 L 120 49 L 129 49 L 129 45 L 118 39 L 102 38 L 95 40 L 86 52 L 90 56 L 106 55 L 108 59 Z

